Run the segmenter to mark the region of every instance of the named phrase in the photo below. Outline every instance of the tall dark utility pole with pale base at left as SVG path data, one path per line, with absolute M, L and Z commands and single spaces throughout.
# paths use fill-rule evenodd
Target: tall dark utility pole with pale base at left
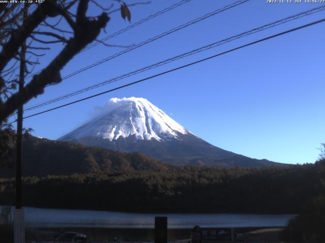
M 26 6 L 26 4 L 25 4 Z M 24 7 L 25 7 L 24 6 Z M 23 14 L 23 23 L 27 16 L 27 9 Z M 25 83 L 25 56 L 26 41 L 22 44 L 20 50 L 20 69 L 19 69 L 19 94 L 23 94 Z M 25 243 L 25 220 L 24 211 L 21 208 L 21 160 L 22 160 L 22 114 L 23 106 L 17 110 L 17 142 L 16 142 L 16 207 L 14 214 L 14 243 Z

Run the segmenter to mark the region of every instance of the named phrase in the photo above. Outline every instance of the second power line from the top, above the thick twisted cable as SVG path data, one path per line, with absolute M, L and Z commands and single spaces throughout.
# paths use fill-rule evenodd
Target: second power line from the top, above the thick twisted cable
M 185 24 L 182 24 L 182 25 L 180 25 L 180 26 L 178 26 L 178 27 L 176 27 L 176 28 L 173 28 L 173 29 L 171 29 L 171 30 L 169 30 L 169 31 L 166 31 L 166 32 L 161 33 L 161 34 L 158 34 L 158 35 L 156 35 L 156 36 L 154 36 L 154 37 L 152 37 L 152 38 L 149 38 L 149 39 L 147 39 L 146 41 L 143 41 L 143 42 L 141 42 L 141 43 L 138 43 L 137 45 L 134 45 L 134 46 L 132 46 L 132 47 L 129 47 L 129 48 L 127 48 L 127 49 L 125 49 L 125 50 L 123 50 L 123 51 L 121 51 L 121 52 L 115 53 L 115 54 L 113 54 L 112 56 L 109 56 L 109 57 L 107 57 L 107 58 L 104 58 L 104 59 L 102 59 L 102 60 L 100 60 L 100 61 L 98 61 L 98 62 L 92 63 L 92 64 L 90 64 L 90 65 L 88 65 L 88 66 L 86 66 L 86 67 L 83 67 L 83 68 L 81 68 L 81 69 L 79 69 L 79 70 L 77 70 L 77 71 L 75 71 L 75 72 L 73 72 L 73 73 L 70 73 L 70 74 L 68 74 L 68 75 L 66 75 L 66 76 L 64 76 L 64 77 L 62 77 L 61 80 L 64 80 L 64 79 L 70 78 L 70 77 L 72 77 L 72 76 L 74 76 L 74 75 L 76 75 L 76 74 L 78 74 L 78 73 L 80 73 L 80 72 L 83 72 L 83 71 L 86 71 L 86 70 L 88 70 L 88 69 L 90 69 L 90 68 L 93 68 L 93 67 L 95 67 L 95 66 L 98 66 L 98 65 L 100 65 L 100 64 L 102 64 L 102 63 L 104 63 L 104 62 L 107 62 L 107 61 L 109 61 L 109 60 L 112 60 L 113 58 L 116 58 L 116 57 L 121 56 L 121 55 L 123 55 L 123 54 L 125 54 L 125 53 L 128 53 L 128 52 L 130 52 L 130 51 L 133 51 L 133 50 L 135 50 L 135 49 L 137 49 L 137 48 L 139 48 L 139 47 L 142 47 L 142 46 L 144 46 L 144 45 L 146 45 L 146 44 L 148 44 L 148 43 L 151 43 L 151 42 L 153 42 L 153 41 L 156 41 L 157 39 L 160 39 L 160 38 L 162 38 L 162 37 L 164 37 L 164 36 L 166 36 L 166 35 L 169 35 L 169 34 L 171 34 L 171 33 L 174 33 L 174 32 L 176 32 L 176 31 L 181 30 L 181 29 L 183 29 L 183 28 L 185 28 L 185 27 L 188 27 L 188 26 L 190 26 L 190 25 L 192 25 L 192 24 L 198 23 L 198 22 L 200 22 L 200 21 L 202 21 L 202 20 L 204 20 L 204 19 L 207 19 L 207 18 L 209 18 L 209 17 L 211 17 L 211 16 L 214 16 L 214 15 L 216 15 L 216 14 L 219 14 L 219 13 L 221 13 L 221 12 L 223 12 L 223 11 L 228 10 L 228 9 L 232 9 L 232 8 L 234 8 L 234 7 L 238 6 L 238 5 L 241 5 L 241 4 L 243 4 L 243 3 L 246 3 L 246 2 L 248 2 L 248 1 L 250 1 L 250 0 L 240 0 L 240 1 L 237 1 L 237 2 L 235 2 L 235 3 L 233 3 L 233 4 L 231 4 L 231 5 L 227 5 L 227 6 L 223 7 L 223 8 L 221 8 L 221 9 L 217 9 L 217 10 L 211 12 L 211 13 L 208 13 L 208 14 L 206 14 L 206 15 L 204 15 L 204 16 L 201 16 L 201 17 L 199 17 L 199 18 L 196 18 L 196 19 L 194 19 L 194 20 L 191 20 L 191 21 L 189 21 L 189 22 L 187 22 L 187 23 L 185 23 Z M 51 86 L 51 85 L 47 85 L 46 87 L 49 87 L 49 86 Z

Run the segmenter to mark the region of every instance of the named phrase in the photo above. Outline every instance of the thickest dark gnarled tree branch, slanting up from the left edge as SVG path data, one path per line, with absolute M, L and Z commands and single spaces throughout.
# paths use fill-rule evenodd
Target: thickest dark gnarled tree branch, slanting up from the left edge
M 87 19 L 86 11 L 88 2 L 89 1 L 87 0 L 79 2 L 77 9 L 77 20 L 76 23 L 74 22 L 74 37 L 69 39 L 67 45 L 62 49 L 62 51 L 46 68 L 42 70 L 40 74 L 33 76 L 31 81 L 24 87 L 22 93 L 13 94 L 5 103 L 0 104 L 0 123 L 2 123 L 11 113 L 13 113 L 17 106 L 24 104 L 31 98 L 42 94 L 47 85 L 61 82 L 60 70 L 86 45 L 94 41 L 102 28 L 105 28 L 107 22 L 109 21 L 109 17 L 106 13 L 103 13 L 96 20 Z M 59 13 L 63 12 L 61 7 L 57 4 L 52 7 Z M 37 17 L 38 24 L 44 21 L 44 19 L 42 19 L 40 16 Z M 29 33 L 31 33 L 32 30 L 33 29 L 30 29 Z M 1 64 L 2 63 L 0 61 L 0 67 Z

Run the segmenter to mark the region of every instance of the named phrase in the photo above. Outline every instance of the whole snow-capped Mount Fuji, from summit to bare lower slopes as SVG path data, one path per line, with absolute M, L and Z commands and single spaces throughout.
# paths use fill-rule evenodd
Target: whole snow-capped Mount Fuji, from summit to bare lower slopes
M 189 132 L 144 98 L 112 98 L 101 115 L 58 140 L 125 152 L 140 151 L 172 165 L 281 165 L 213 146 Z

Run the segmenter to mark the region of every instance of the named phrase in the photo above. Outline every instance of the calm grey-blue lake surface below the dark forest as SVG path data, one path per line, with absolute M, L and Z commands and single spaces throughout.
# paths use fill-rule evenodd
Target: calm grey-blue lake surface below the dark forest
M 1 206 L 0 206 L 1 208 Z M 13 210 L 13 209 L 12 209 Z M 154 228 L 155 216 L 167 216 L 168 228 L 283 227 L 294 214 L 142 214 L 93 210 L 24 208 L 27 227 Z

